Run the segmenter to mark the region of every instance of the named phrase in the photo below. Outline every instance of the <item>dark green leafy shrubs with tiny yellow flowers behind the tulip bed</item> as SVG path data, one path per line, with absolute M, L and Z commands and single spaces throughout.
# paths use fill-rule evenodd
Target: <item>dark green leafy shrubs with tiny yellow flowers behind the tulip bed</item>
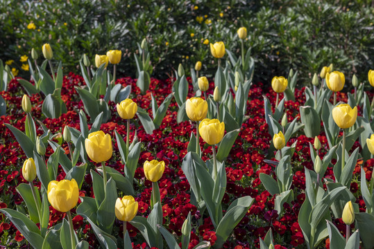
M 334 64 L 347 82 L 355 73 L 367 81 L 374 58 L 374 1 L 371 0 L 0 0 L 0 58 L 19 59 L 53 48 L 64 71 L 78 72 L 78 60 L 120 49 L 120 75 L 135 77 L 137 42 L 146 38 L 153 77 L 167 78 L 182 63 L 201 60 L 203 75 L 212 76 L 216 61 L 209 42 L 223 41 L 239 55 L 237 29 L 248 29 L 246 48 L 255 59 L 254 82 L 269 84 L 274 75 L 299 71 L 310 84 L 322 66 Z M 33 25 L 35 24 L 35 25 Z

